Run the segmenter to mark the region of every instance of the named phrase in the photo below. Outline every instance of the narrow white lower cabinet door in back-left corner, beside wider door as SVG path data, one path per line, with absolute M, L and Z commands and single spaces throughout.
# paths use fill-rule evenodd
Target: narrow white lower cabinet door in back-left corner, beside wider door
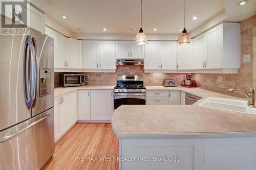
M 78 90 L 78 120 L 90 120 L 90 90 Z

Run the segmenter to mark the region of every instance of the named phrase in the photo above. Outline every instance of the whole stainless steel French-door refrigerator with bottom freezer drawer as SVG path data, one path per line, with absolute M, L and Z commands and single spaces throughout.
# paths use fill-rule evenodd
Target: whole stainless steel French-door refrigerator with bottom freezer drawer
M 0 169 L 40 169 L 54 153 L 53 41 L 0 35 Z

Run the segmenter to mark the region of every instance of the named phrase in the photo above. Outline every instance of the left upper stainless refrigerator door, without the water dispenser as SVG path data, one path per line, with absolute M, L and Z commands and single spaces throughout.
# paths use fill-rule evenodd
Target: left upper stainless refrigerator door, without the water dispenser
M 27 44 L 27 52 L 24 53 L 27 37 L 27 35 L 0 35 L 0 131 L 31 117 L 31 109 L 27 107 L 25 100 L 26 94 L 27 102 L 30 101 L 32 83 L 29 75 L 31 72 L 29 44 Z M 27 56 L 26 60 L 24 56 Z M 26 93 L 25 89 L 27 89 Z

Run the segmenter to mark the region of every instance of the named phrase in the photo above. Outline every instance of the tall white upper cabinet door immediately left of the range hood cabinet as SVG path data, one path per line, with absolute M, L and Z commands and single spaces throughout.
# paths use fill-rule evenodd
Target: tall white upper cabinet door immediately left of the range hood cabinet
M 100 41 L 100 69 L 116 69 L 116 41 Z

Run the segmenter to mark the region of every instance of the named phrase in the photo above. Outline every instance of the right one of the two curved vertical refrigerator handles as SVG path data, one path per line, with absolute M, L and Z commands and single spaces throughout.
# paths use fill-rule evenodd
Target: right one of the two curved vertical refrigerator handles
M 33 100 L 33 103 L 32 103 L 32 107 L 34 108 L 35 105 L 36 105 L 36 100 L 38 98 L 38 81 L 39 81 L 39 76 L 38 76 L 38 72 L 39 72 L 39 68 L 38 68 L 38 62 L 37 62 L 37 57 L 38 57 L 38 52 L 37 52 L 37 44 L 36 44 L 36 40 L 34 37 L 32 37 L 32 43 L 33 43 L 33 46 L 34 46 L 34 50 L 35 50 L 35 75 L 34 75 L 34 78 L 35 78 L 35 89 L 34 89 L 34 100 Z

